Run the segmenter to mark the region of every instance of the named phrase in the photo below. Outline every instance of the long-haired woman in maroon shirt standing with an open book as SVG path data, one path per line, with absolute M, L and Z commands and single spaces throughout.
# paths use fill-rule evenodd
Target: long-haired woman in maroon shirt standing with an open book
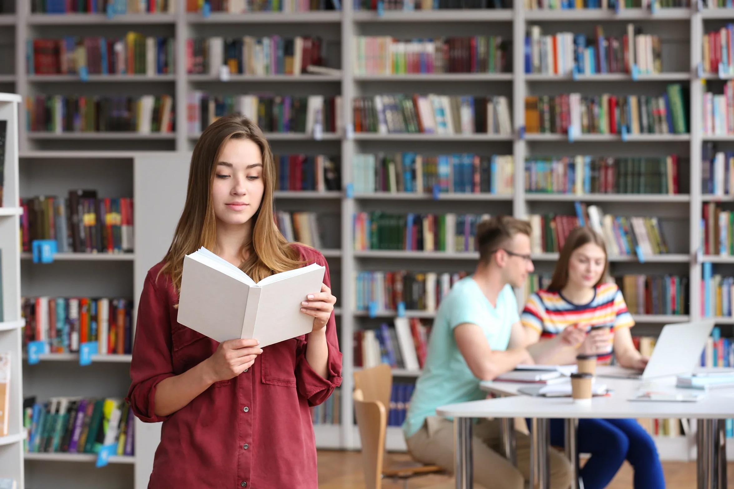
M 275 227 L 274 184 L 257 125 L 230 116 L 204 130 L 170 249 L 138 305 L 128 401 L 143 422 L 163 422 L 149 488 L 318 486 L 309 408 L 341 384 L 336 299 L 319 251 L 287 243 Z M 257 339 L 217 343 L 177 323 L 183 257 L 200 246 L 255 282 L 324 265 L 320 293 L 283 304 L 313 316 L 310 334 L 258 348 Z

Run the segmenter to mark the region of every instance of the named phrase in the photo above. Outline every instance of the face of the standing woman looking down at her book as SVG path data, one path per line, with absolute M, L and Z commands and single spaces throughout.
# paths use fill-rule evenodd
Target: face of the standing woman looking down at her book
M 211 185 L 214 215 L 222 224 L 245 224 L 260 208 L 265 191 L 263 156 L 249 139 L 230 139 L 217 161 Z

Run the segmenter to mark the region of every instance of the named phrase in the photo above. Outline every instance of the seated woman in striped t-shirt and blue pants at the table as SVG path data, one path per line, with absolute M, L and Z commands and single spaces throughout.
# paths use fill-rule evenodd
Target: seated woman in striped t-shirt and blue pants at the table
M 634 326 L 622 292 L 606 282 L 604 241 L 589 227 L 568 235 L 547 290 L 528 298 L 521 320 L 538 364 L 573 364 L 576 356 L 596 356 L 608 363 L 611 355 L 622 367 L 644 369 L 647 358 L 634 347 Z M 591 326 L 608 326 L 587 333 Z M 565 328 L 577 328 L 578 346 L 561 342 Z M 551 444 L 564 445 L 563 421 L 551 420 Z M 579 419 L 578 449 L 592 457 L 581 469 L 585 489 L 602 489 L 625 460 L 634 468 L 636 489 L 665 488 L 663 468 L 653 438 L 634 419 Z

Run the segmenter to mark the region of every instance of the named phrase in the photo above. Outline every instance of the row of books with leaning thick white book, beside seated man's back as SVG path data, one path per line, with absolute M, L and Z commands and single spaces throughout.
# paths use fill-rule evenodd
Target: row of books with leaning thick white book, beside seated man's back
M 355 367 L 388 364 L 393 369 L 418 372 L 426 361 L 429 334 L 430 326 L 415 317 L 396 317 L 393 327 L 382 323 L 377 329 L 357 330 Z

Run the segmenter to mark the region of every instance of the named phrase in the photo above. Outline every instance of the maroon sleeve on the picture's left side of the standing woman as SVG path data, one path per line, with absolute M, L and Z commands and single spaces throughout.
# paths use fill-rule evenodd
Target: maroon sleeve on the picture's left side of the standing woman
M 158 383 L 175 375 L 171 350 L 169 304 L 164 293 L 156 287 L 156 278 L 149 272 L 138 304 L 130 364 L 132 383 L 126 397 L 133 413 L 142 422 L 156 423 L 168 418 L 156 416 L 155 398 Z

